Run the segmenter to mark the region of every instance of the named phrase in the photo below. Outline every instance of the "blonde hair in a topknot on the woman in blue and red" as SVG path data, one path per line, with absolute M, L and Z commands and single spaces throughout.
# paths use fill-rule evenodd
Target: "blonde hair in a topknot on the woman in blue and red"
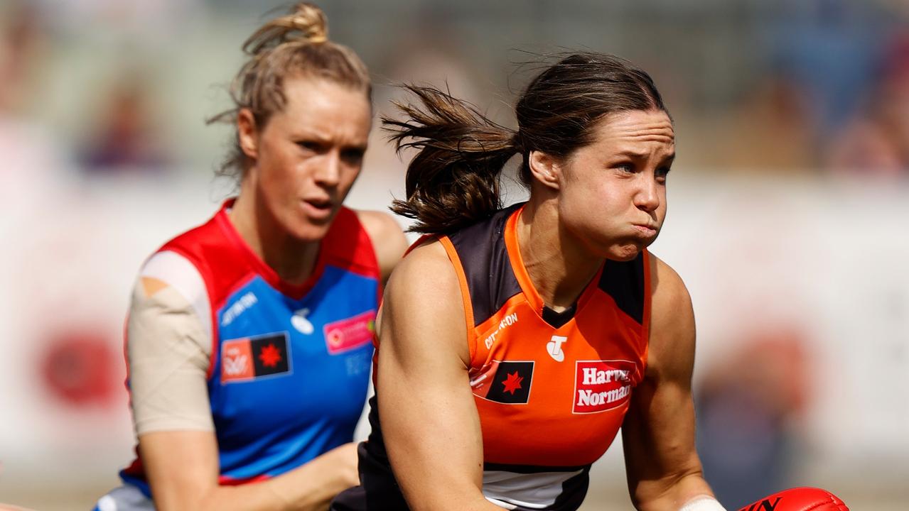
M 328 40 L 328 22 L 319 7 L 300 2 L 286 15 L 276 17 L 259 27 L 243 44 L 249 60 L 243 64 L 230 85 L 234 108 L 218 113 L 207 123 L 235 123 L 241 109 L 253 113 L 262 129 L 287 101 L 285 79 L 305 76 L 320 78 L 366 96 L 372 92 L 369 72 L 353 50 Z M 221 172 L 234 175 L 245 172 L 248 161 L 240 150 L 237 135 L 231 152 L 221 165 Z

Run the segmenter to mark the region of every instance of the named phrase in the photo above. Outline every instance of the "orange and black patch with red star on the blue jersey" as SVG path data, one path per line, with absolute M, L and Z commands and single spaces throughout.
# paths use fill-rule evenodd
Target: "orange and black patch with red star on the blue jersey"
M 221 383 L 290 372 L 287 332 L 221 343 Z

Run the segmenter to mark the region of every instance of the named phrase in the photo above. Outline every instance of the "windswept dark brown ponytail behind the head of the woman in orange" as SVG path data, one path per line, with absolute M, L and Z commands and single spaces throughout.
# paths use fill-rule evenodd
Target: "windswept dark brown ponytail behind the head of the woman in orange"
M 499 174 L 515 153 L 514 131 L 434 87 L 405 85 L 423 108 L 395 103 L 407 120 L 384 117 L 398 152 L 420 150 L 407 167 L 407 200 L 392 211 L 415 219 L 410 231 L 448 233 L 502 207 Z M 410 139 L 410 142 L 405 142 Z

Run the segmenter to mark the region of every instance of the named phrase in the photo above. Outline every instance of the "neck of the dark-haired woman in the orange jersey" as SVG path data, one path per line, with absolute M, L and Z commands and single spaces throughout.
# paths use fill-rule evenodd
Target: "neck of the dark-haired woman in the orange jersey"
M 534 201 L 532 196 L 518 219 L 517 234 L 527 275 L 546 307 L 556 312 L 577 301 L 603 264 L 564 230 L 555 199 Z

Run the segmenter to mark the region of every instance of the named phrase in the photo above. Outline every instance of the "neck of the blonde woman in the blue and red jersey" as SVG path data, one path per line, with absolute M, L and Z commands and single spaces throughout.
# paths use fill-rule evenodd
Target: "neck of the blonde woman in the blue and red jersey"
M 302 284 L 315 269 L 319 241 L 300 241 L 281 228 L 255 190 L 241 185 L 240 195 L 228 217 L 243 241 L 257 256 L 290 284 Z

